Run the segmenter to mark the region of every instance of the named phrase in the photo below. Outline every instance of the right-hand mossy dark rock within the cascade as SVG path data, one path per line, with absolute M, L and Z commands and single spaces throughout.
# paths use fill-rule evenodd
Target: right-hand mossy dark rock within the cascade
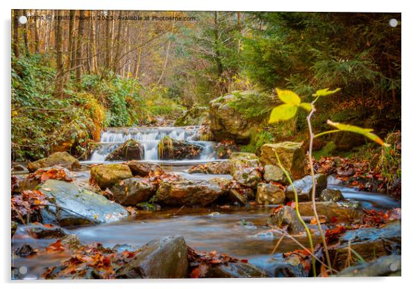
M 203 146 L 188 140 L 173 140 L 166 136 L 158 143 L 160 160 L 195 160 L 200 158 Z

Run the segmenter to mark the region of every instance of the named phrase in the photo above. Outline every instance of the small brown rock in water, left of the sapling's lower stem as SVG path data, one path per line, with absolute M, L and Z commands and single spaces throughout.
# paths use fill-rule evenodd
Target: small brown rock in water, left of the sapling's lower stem
M 290 206 L 283 206 L 271 215 L 267 220 L 267 224 L 269 226 L 278 226 L 279 228 L 287 226 L 287 231 L 291 234 L 298 234 L 305 231 L 303 225 L 298 220 L 296 210 Z

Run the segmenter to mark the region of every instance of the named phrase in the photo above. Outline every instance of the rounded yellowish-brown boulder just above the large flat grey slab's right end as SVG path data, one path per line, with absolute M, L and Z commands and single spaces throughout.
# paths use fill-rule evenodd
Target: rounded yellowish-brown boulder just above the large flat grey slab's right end
M 97 165 L 90 170 L 90 183 L 97 183 L 102 190 L 132 177 L 131 169 L 123 164 Z

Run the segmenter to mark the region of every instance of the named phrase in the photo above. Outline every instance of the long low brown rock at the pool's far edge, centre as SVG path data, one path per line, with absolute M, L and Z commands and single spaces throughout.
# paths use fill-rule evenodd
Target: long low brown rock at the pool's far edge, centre
M 210 181 L 163 181 L 156 193 L 156 203 L 165 206 L 207 206 L 224 194 Z

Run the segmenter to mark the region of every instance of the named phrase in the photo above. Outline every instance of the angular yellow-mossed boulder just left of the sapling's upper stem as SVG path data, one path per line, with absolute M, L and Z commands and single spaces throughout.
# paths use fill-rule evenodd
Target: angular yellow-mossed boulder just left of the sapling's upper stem
M 263 165 L 277 165 L 277 158 L 281 164 L 290 172 L 293 179 L 300 179 L 305 175 L 305 152 L 301 142 L 278 142 L 276 144 L 265 144 L 261 147 L 260 160 Z

